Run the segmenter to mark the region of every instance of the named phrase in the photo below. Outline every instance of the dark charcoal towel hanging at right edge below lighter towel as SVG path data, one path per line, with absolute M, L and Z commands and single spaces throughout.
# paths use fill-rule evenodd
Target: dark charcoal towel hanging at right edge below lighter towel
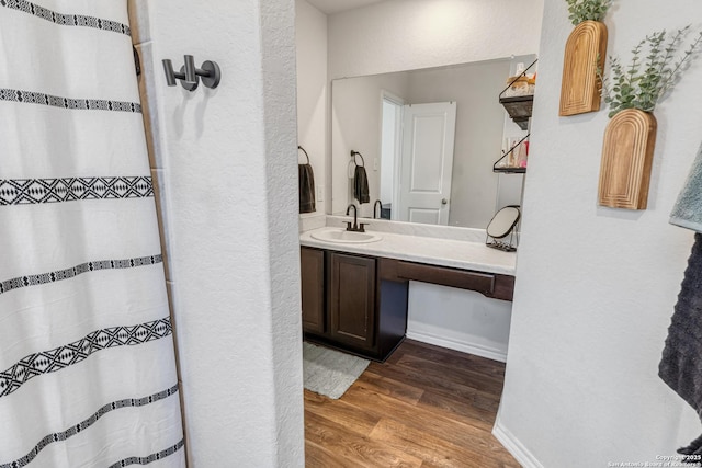
M 702 233 L 694 246 L 680 286 L 658 376 L 697 411 L 702 420 Z M 702 437 L 678 450 L 702 455 Z

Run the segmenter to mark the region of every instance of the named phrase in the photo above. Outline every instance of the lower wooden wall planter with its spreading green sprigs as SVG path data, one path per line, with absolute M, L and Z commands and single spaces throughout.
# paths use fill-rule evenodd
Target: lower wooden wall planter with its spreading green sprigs
M 656 144 L 656 104 L 672 89 L 702 45 L 702 32 L 683 47 L 690 26 L 673 34 L 655 32 L 632 49 L 627 66 L 610 57 L 601 95 L 611 117 L 604 130 L 599 203 L 645 209 Z

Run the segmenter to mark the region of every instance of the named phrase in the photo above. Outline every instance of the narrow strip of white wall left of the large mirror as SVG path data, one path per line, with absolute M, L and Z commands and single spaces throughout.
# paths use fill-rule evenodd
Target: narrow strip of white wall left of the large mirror
M 297 49 L 297 142 L 309 155 L 315 173 L 316 213 L 326 213 L 327 179 L 327 15 L 295 0 Z M 299 152 L 299 162 L 306 162 Z M 304 215 L 312 216 L 312 215 Z

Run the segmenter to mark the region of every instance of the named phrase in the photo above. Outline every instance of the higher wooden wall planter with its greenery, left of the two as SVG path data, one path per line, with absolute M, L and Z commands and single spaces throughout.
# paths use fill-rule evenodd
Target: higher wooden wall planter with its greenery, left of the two
M 600 109 L 598 67 L 604 67 L 607 26 L 602 23 L 612 0 L 566 0 L 575 28 L 568 36 L 563 60 L 558 115 L 576 115 Z

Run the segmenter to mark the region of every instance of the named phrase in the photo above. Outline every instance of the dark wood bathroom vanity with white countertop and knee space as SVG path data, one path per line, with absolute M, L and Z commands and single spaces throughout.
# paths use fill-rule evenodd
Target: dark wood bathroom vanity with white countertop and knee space
M 478 242 L 392 232 L 366 243 L 329 242 L 314 237 L 321 229 L 301 235 L 308 341 L 385 361 L 405 338 L 410 281 L 512 299 L 513 253 Z

